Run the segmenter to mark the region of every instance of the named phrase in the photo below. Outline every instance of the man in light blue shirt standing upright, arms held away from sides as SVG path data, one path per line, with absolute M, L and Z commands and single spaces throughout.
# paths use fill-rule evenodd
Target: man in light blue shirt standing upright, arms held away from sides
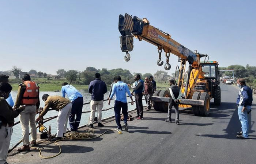
M 114 94 L 116 94 L 114 111 L 115 111 L 115 117 L 116 117 L 117 130 L 122 130 L 121 123 L 120 123 L 121 122 L 120 111 L 122 108 L 122 113 L 124 114 L 124 130 L 128 131 L 128 127 L 127 127 L 128 106 L 127 106 L 126 93 L 131 98 L 131 104 L 133 105 L 132 95 L 129 91 L 128 85 L 121 81 L 120 76 L 114 77 L 114 81 L 116 83 L 114 83 L 112 87 L 112 93 L 109 97 L 109 105 Z

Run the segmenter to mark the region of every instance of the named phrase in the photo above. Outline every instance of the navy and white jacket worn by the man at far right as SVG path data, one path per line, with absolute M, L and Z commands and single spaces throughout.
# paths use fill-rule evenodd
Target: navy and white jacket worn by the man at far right
M 238 94 L 237 104 L 246 107 L 252 106 L 252 89 L 246 85 L 241 86 Z

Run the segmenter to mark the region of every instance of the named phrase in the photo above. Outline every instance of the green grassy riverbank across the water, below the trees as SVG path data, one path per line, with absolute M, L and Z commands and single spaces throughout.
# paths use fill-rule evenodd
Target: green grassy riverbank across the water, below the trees
M 81 79 L 80 81 L 82 81 Z M 38 86 L 40 87 L 40 91 L 61 91 L 62 83 L 67 82 L 67 79 L 61 78 L 61 79 L 47 79 L 47 78 L 31 78 L 31 81 L 35 81 Z M 18 90 L 18 86 L 20 83 L 22 83 L 21 79 L 10 79 L 9 83 L 12 86 L 13 91 Z M 74 84 L 72 83 L 74 87 L 78 90 L 88 90 L 89 85 L 81 85 L 81 84 Z M 108 90 L 110 89 L 110 85 L 107 85 Z M 169 85 L 165 83 L 157 83 L 158 89 L 164 89 L 168 88 Z

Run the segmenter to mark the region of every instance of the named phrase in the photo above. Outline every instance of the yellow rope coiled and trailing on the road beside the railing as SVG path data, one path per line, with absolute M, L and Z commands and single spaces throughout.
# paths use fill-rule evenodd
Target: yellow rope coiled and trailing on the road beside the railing
M 85 133 L 78 133 L 78 132 L 70 133 L 70 132 L 68 132 L 68 134 L 67 134 L 67 136 L 66 136 L 67 139 L 64 138 L 64 139 L 61 139 L 61 140 L 56 140 L 56 141 L 54 142 L 54 144 L 58 145 L 58 146 L 59 146 L 59 149 L 60 149 L 60 152 L 59 152 L 58 154 L 54 155 L 54 156 L 43 157 L 43 156 L 41 156 L 41 153 L 42 153 L 41 149 L 35 148 L 35 147 L 31 147 L 31 148 L 34 148 L 34 149 L 39 150 L 39 156 L 40 156 L 41 158 L 50 159 L 50 158 L 56 157 L 56 156 L 58 156 L 58 155 L 61 154 L 61 147 L 60 147 L 59 144 L 57 144 L 57 142 L 59 142 L 59 141 L 64 141 L 64 140 L 89 140 L 89 139 L 93 139 L 93 138 L 100 137 L 100 136 L 102 136 L 103 134 L 105 134 L 106 132 L 109 132 L 109 131 L 112 131 L 112 130 L 114 131 L 114 130 L 116 130 L 116 129 L 107 130 L 107 131 L 105 131 L 104 133 L 99 134 L 98 136 L 95 136 L 95 135 L 94 135 L 94 130 L 91 129 L 91 128 L 89 128 L 89 129 L 87 130 L 87 132 L 85 132 Z M 120 130 L 116 130 L 116 131 L 118 132 L 118 134 L 123 134 Z

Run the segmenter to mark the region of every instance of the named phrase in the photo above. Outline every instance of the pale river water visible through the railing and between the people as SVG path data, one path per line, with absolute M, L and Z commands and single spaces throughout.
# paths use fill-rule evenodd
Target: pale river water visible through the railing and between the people
M 79 90 L 79 92 L 83 95 L 84 103 L 90 102 L 91 94 L 88 93 L 87 90 Z M 53 92 L 53 91 L 43 92 L 43 91 L 40 91 L 40 107 L 44 107 L 44 101 L 42 101 L 42 98 L 41 98 L 43 94 L 49 94 L 50 96 L 53 96 L 53 95 L 61 96 L 61 92 Z M 104 94 L 104 99 L 108 98 L 108 94 L 109 94 L 109 92 Z M 16 96 L 17 96 L 17 91 L 11 91 L 11 95 L 12 95 L 12 99 L 15 102 L 15 99 L 16 99 Z M 67 98 L 67 95 L 66 95 L 66 98 Z M 127 102 L 130 102 L 130 101 L 131 100 L 128 97 Z M 134 101 L 134 97 L 133 97 L 133 101 Z M 145 105 L 146 105 L 146 102 L 145 102 L 145 100 L 143 100 L 143 106 L 145 106 Z M 114 101 L 113 100 L 111 101 L 110 105 L 108 105 L 108 101 L 104 101 L 104 105 L 103 105 L 102 109 L 107 109 L 107 108 L 110 108 L 110 107 L 113 107 L 113 106 L 114 106 Z M 128 110 L 133 110 L 135 108 L 136 108 L 135 103 L 134 103 L 133 106 L 131 105 L 131 103 L 128 104 Z M 90 111 L 90 104 L 83 105 L 83 111 Z M 48 113 L 46 113 L 44 118 L 57 116 L 57 115 L 58 115 L 58 112 L 56 110 L 51 110 L 51 111 L 48 111 Z M 36 116 L 36 118 L 37 118 L 37 116 Z M 95 116 L 97 117 L 97 112 L 95 113 Z M 107 110 L 107 111 L 102 111 L 102 119 L 110 117 L 110 116 L 114 116 L 114 109 L 110 109 L 110 110 Z M 88 121 L 89 121 L 89 118 L 90 118 L 90 112 L 89 113 L 83 113 L 79 126 L 87 124 Z M 17 121 L 19 121 L 19 116 L 17 118 L 15 118 L 15 122 L 17 122 Z M 47 129 L 49 128 L 49 125 L 51 126 L 51 133 L 52 134 L 57 133 L 56 118 L 53 119 L 53 120 L 50 120 L 50 121 L 48 121 L 44 124 L 44 126 Z M 67 127 L 69 128 L 69 124 L 68 124 Z M 38 129 L 37 129 L 37 132 L 38 132 Z M 22 129 L 21 129 L 20 124 L 17 124 L 13 127 L 13 133 L 12 133 L 12 137 L 11 137 L 10 148 L 12 148 L 21 138 L 22 138 Z M 22 145 L 22 144 L 23 144 L 23 142 L 20 145 Z

